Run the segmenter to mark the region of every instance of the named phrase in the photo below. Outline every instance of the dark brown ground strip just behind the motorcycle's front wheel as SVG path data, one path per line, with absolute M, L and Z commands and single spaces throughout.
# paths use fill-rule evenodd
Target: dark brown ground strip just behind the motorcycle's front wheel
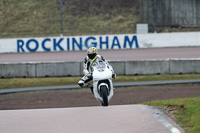
M 122 87 L 114 90 L 109 105 L 200 96 L 200 84 Z M 52 90 L 0 95 L 0 110 L 101 106 L 90 89 Z

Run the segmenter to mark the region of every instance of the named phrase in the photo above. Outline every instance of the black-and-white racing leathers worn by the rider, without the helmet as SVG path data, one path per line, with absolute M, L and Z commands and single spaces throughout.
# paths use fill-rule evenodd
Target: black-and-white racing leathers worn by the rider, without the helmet
M 79 80 L 78 85 L 82 88 L 86 87 L 92 87 L 92 84 L 89 84 L 88 82 L 92 80 L 92 66 L 96 65 L 99 61 L 103 61 L 107 64 L 108 69 L 112 71 L 112 74 L 114 74 L 114 70 L 112 66 L 107 62 L 107 60 L 101 56 L 101 55 L 96 55 L 96 59 L 94 61 L 91 61 L 88 56 L 86 56 L 84 62 L 83 62 L 83 73 L 85 76 L 82 77 L 81 80 Z

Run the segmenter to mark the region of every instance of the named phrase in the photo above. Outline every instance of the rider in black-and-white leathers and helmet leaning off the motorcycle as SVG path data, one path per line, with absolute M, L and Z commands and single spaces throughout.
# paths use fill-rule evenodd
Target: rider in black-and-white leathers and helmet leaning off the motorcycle
M 108 68 L 112 71 L 113 73 L 113 78 L 116 77 L 116 74 L 114 74 L 114 70 L 112 68 L 112 66 L 107 62 L 107 60 L 101 56 L 97 54 L 97 49 L 95 47 L 90 47 L 87 50 L 87 56 L 85 57 L 85 60 L 83 62 L 83 73 L 85 74 L 85 76 L 82 77 L 81 80 L 79 80 L 78 82 L 78 86 L 81 88 L 86 88 L 86 87 L 90 87 L 91 92 L 93 93 L 93 86 L 92 84 L 88 83 L 89 81 L 92 80 L 92 66 L 96 64 L 96 62 L 99 61 L 103 61 L 107 64 Z

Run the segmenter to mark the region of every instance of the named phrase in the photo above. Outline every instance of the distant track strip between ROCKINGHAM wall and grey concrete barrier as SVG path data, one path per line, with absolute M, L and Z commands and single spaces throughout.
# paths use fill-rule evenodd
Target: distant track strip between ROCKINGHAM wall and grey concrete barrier
M 108 60 L 200 58 L 200 47 L 99 50 Z M 0 62 L 83 61 L 86 51 L 0 54 Z

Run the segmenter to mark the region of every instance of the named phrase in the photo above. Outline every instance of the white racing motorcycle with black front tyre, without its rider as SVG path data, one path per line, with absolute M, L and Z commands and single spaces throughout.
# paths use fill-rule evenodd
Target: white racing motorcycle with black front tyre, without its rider
M 90 79 L 93 80 L 93 94 L 102 106 L 108 106 L 108 102 L 112 98 L 114 74 L 104 62 L 98 62 L 92 66 L 93 73 Z

